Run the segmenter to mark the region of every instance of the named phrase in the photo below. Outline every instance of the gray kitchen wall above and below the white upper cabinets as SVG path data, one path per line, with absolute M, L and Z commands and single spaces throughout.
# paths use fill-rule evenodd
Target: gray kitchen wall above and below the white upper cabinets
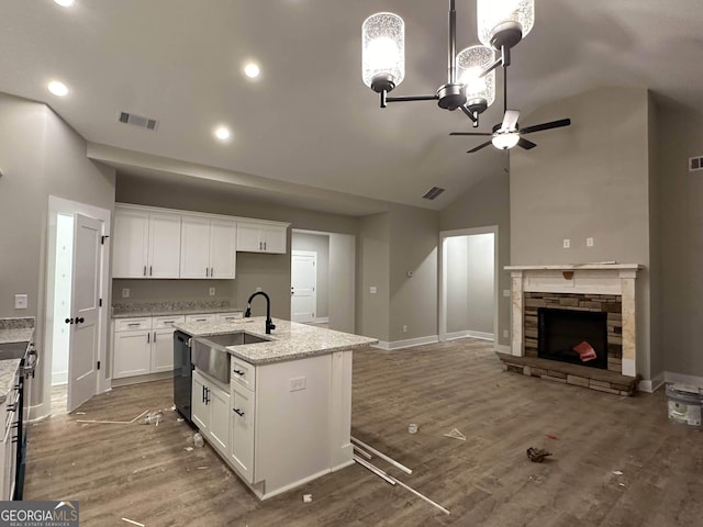
M 291 228 L 356 234 L 358 220 L 349 216 L 325 214 L 302 209 L 272 205 L 270 203 L 243 200 L 231 192 L 203 188 L 197 182 L 174 181 L 169 184 L 149 181 L 146 178 L 118 176 L 116 201 L 141 205 L 161 206 L 183 211 L 230 214 L 261 220 L 291 223 Z M 233 306 L 246 307 L 248 296 L 261 287 L 271 298 L 271 315 L 290 318 L 290 247 L 289 229 L 288 253 L 286 255 L 258 255 L 237 253 L 237 277 L 235 280 L 216 280 L 220 291 L 228 295 Z M 120 281 L 122 282 L 122 281 Z M 200 288 L 207 295 L 210 281 L 170 280 L 168 285 L 159 280 L 132 280 L 135 294 L 145 299 L 179 299 L 196 295 Z M 190 283 L 189 283 L 190 282 Z M 118 284 L 114 285 L 115 293 Z M 118 296 L 115 296 L 118 298 Z M 255 301 L 255 315 L 265 314 L 265 303 Z

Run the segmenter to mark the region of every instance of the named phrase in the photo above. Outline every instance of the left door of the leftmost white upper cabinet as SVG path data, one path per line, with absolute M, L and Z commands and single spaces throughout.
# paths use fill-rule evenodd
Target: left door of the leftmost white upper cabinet
M 148 271 L 149 216 L 145 212 L 115 209 L 112 277 L 145 278 Z

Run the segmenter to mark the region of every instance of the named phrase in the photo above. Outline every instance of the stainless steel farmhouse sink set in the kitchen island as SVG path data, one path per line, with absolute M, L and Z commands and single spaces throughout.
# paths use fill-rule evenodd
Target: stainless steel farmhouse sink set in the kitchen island
M 230 383 L 230 352 L 228 346 L 244 346 L 247 344 L 266 343 L 268 338 L 258 337 L 244 332 L 193 337 L 192 363 L 210 377 Z

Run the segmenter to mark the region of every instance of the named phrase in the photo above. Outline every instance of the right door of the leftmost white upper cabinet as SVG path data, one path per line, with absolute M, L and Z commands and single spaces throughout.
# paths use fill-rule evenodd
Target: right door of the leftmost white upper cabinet
M 148 278 L 180 277 L 180 215 L 149 214 Z

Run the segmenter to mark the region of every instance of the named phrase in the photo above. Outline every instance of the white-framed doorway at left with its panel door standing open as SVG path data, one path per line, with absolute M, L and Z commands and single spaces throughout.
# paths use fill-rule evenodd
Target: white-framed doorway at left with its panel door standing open
M 109 233 L 110 211 L 49 197 L 44 396 L 35 412 L 40 417 L 66 413 L 71 399 L 77 406 L 109 388 L 102 366 L 110 305 Z

